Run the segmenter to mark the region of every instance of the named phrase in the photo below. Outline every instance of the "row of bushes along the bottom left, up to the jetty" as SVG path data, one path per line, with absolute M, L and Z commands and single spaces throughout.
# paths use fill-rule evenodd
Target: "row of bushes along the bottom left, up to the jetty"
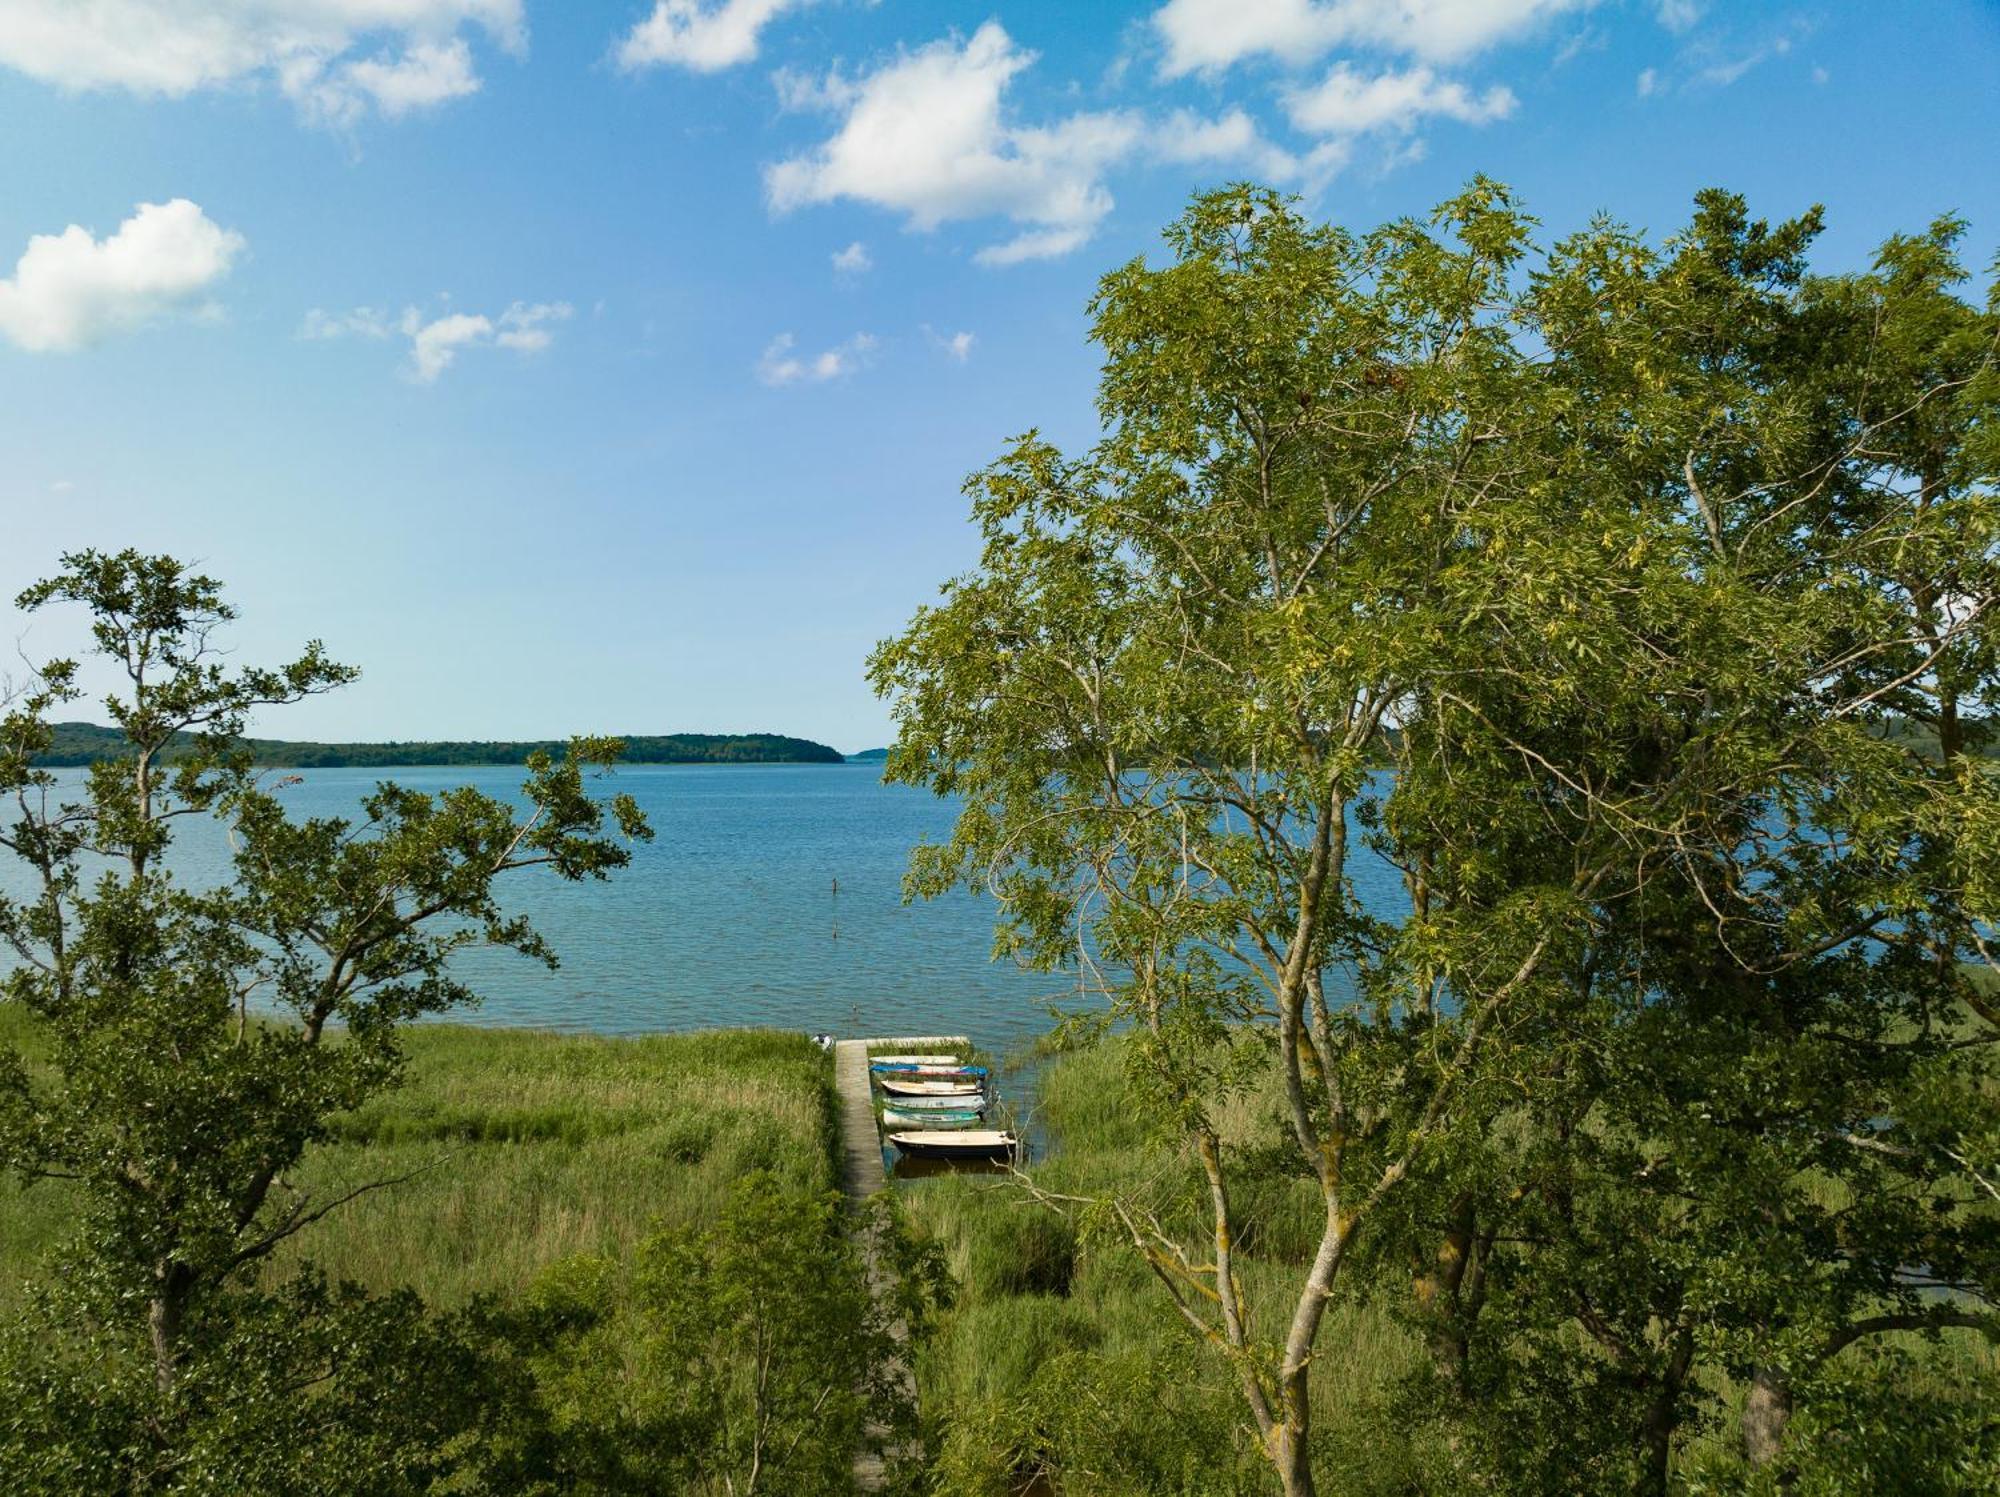
M 920 1329 L 932 1285 L 912 1257 L 914 1297 L 876 1307 L 846 1227 L 754 1173 L 714 1221 L 506 1301 L 436 1313 L 302 1271 L 236 1295 L 172 1389 L 144 1339 L 50 1297 L 0 1333 L 0 1471 L 50 1497 L 846 1493 L 858 1447 L 914 1427 L 888 1323 Z

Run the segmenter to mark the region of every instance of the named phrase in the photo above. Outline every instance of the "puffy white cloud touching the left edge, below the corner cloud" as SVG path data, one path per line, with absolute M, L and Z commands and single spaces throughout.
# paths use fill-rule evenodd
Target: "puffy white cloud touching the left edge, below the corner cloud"
M 244 236 L 186 198 L 142 202 L 110 238 L 70 224 L 36 234 L 0 280 L 0 336 L 30 352 L 70 352 L 172 312 L 198 312 Z

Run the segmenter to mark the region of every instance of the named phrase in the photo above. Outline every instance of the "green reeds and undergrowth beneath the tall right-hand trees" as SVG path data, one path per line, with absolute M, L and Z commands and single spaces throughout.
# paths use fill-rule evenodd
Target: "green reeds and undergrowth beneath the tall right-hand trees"
M 918 1365 L 934 1491 L 1002 1497 L 1030 1477 L 1078 1497 L 1236 1497 L 1272 1485 L 1210 1351 L 1160 1307 L 1116 1219 L 1074 1205 L 1144 1179 L 1158 1219 L 1190 1247 L 1202 1235 L 1200 1163 L 1132 1107 L 1128 1051 L 1130 1041 L 1112 1039 L 1042 1069 L 1038 1115 L 1054 1149 L 1030 1169 L 1028 1189 L 980 1177 L 910 1189 L 912 1223 L 962 1283 Z M 1226 1109 L 1222 1135 L 1248 1153 L 1276 1121 L 1266 1089 Z M 1306 1181 L 1242 1183 L 1236 1263 L 1258 1315 L 1282 1307 L 1288 1277 L 1310 1261 L 1314 1217 Z M 1354 1497 L 1556 1497 L 1630 1481 L 1612 1391 L 1588 1377 L 1560 1381 L 1580 1365 L 1580 1345 L 1540 1363 L 1530 1339 L 1492 1347 L 1482 1369 L 1506 1369 L 1506 1385 L 1476 1399 L 1440 1387 L 1432 1327 L 1410 1295 L 1422 1267 L 1386 1255 L 1328 1313 L 1328 1341 L 1344 1355 L 1314 1383 L 1316 1481 Z M 1748 1389 L 1718 1379 L 1706 1393 L 1730 1409 Z M 1748 1463 L 1726 1419 L 1682 1427 L 1678 1487 L 1702 1497 L 1970 1497 L 1994 1481 L 1996 1407 L 2000 1357 L 1976 1335 L 1878 1337 L 1804 1393 L 1774 1461 Z

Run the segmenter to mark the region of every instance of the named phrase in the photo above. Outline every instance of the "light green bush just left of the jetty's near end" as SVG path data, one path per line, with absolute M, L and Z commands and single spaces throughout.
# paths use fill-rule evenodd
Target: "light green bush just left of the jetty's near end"
M 754 1173 L 706 1227 L 544 1273 L 514 1317 L 530 1407 L 496 1463 L 566 1493 L 742 1491 L 752 1471 L 850 1491 L 868 1431 L 916 1411 L 846 1229 L 838 1197 Z

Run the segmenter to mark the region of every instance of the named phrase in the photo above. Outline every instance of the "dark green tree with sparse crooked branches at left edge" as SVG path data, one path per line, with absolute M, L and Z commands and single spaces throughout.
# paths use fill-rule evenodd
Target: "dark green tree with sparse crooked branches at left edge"
M 268 1383 L 324 1409 L 310 1389 L 364 1357 L 332 1335 L 290 1371 L 278 1351 L 264 1369 L 218 1371 L 276 1347 L 242 1331 L 274 1317 L 260 1265 L 394 1183 L 314 1195 L 294 1185 L 298 1163 L 336 1113 L 396 1085 L 408 1021 L 476 999 L 452 975 L 456 951 L 554 965 L 502 909 L 506 875 L 602 879 L 650 831 L 630 797 L 592 797 L 588 777 L 618 757 L 604 738 L 532 757 L 518 805 L 382 783 L 354 819 L 292 819 L 284 781 L 252 769 L 242 730 L 350 668 L 318 644 L 284 668 L 230 668 L 218 630 L 234 610 L 168 556 L 68 554 L 20 596 L 26 610 L 54 604 L 90 620 L 126 753 L 82 785 L 36 767 L 50 712 L 78 696 L 74 660 L 46 664 L 0 720 L 0 793 L 14 801 L 0 847 L 32 889 L 0 901 L 4 993 L 38 1017 L 46 1047 L 0 1055 L 0 1157 L 30 1181 L 70 1181 L 82 1201 L 44 1345 L 50 1357 L 66 1355 L 64 1337 L 94 1345 L 84 1361 L 98 1365 L 144 1349 L 152 1393 L 120 1405 L 138 1411 L 122 1459 L 124 1479 L 150 1489 L 180 1479 L 196 1431 L 240 1389 Z M 174 877 L 186 817 L 228 827 L 218 887 Z M 286 1293 L 304 1319 L 332 1303 L 310 1277 Z

